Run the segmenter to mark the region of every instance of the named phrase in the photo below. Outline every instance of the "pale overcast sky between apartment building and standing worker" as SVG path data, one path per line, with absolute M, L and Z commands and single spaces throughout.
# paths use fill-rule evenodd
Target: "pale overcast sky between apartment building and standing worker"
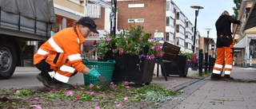
M 234 14 L 234 10 L 232 8 L 235 4 L 233 0 L 173 0 L 173 2 L 193 25 L 195 9 L 190 8 L 190 6 L 204 7 L 204 9 L 199 10 L 197 20 L 197 29 L 201 37 L 207 37 L 206 29 L 210 28 L 209 37 L 216 38 L 215 21 L 224 10 L 227 10 L 230 15 Z

